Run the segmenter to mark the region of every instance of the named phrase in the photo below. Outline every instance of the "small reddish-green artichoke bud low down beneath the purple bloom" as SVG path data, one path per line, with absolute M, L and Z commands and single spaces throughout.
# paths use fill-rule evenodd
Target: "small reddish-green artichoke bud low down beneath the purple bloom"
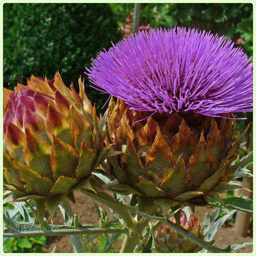
M 170 218 L 170 221 L 176 222 L 173 216 Z M 191 231 L 194 236 L 203 236 L 199 220 L 195 215 L 189 219 L 188 224 L 186 215 L 182 212 L 180 216 L 180 226 Z M 165 224 L 154 232 L 154 246 L 159 253 L 197 253 L 202 249 Z

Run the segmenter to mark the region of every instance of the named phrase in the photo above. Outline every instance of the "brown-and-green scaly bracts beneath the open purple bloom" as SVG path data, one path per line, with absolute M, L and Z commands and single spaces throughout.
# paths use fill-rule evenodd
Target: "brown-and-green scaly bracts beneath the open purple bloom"
M 239 163 L 231 163 L 248 127 L 234 140 L 234 119 L 196 113 L 147 116 L 120 99 L 110 102 L 107 138 L 116 151 L 125 152 L 108 158 L 120 183 L 111 189 L 137 194 L 139 208 L 151 201 L 166 215 L 170 208 L 211 207 L 209 196 L 224 205 L 218 193 L 241 188 L 230 181 L 247 174 L 236 172 Z

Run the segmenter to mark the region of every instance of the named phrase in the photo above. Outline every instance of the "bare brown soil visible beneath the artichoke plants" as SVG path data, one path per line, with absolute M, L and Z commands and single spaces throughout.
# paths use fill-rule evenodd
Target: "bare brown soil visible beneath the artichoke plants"
M 93 200 L 82 194 L 81 192 L 75 192 L 76 204 L 72 204 L 74 214 L 78 215 L 78 218 L 81 224 L 99 224 L 99 217 L 96 212 L 96 208 L 93 204 Z M 98 202 L 97 202 L 98 203 Z M 111 213 L 108 207 L 105 205 L 98 203 L 99 207 L 105 209 L 108 214 L 108 217 L 111 220 Z M 200 221 L 204 220 L 205 213 L 210 211 L 205 207 L 197 207 L 195 210 L 195 216 L 199 218 Z M 113 220 L 113 219 L 112 219 Z M 53 218 L 54 224 L 63 224 L 64 219 L 61 215 L 61 212 L 58 208 L 55 217 Z M 214 245 L 219 248 L 223 248 L 229 244 L 241 244 L 244 242 L 252 242 L 253 241 L 253 227 L 250 226 L 250 230 L 248 230 L 247 237 L 236 236 L 234 225 L 231 223 L 226 227 L 221 227 L 218 232 L 214 236 L 215 243 Z M 56 247 L 56 253 L 73 253 L 73 247 L 70 241 L 69 236 L 48 236 L 47 244 L 43 247 L 44 253 L 49 253 Z M 240 250 L 234 251 L 234 253 L 252 253 L 253 245 L 249 245 Z

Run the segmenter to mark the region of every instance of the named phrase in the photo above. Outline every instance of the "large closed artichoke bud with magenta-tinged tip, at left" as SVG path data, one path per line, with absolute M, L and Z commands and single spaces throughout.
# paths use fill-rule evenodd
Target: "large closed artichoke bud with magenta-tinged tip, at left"
M 54 82 L 31 76 L 15 92 L 4 89 L 3 187 L 16 201 L 33 198 L 51 216 L 73 191 L 90 186 L 93 169 L 105 160 L 105 118 L 96 116 L 79 79 L 79 94 L 59 73 Z M 40 204 L 40 206 L 39 206 Z M 43 214 L 41 212 L 41 214 Z

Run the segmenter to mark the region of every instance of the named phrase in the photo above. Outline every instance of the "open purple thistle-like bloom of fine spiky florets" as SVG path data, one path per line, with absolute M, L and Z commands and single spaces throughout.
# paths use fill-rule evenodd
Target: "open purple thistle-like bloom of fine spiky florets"
M 100 52 L 86 74 L 135 111 L 253 111 L 253 64 L 233 45 L 206 31 L 150 29 Z

